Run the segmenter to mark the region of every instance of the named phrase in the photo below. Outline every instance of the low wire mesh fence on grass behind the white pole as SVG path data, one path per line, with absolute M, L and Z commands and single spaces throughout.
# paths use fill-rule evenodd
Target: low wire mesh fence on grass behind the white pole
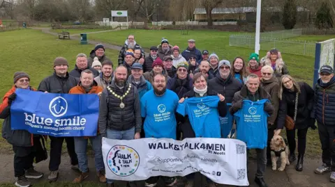
M 229 45 L 236 47 L 255 48 L 255 37 L 249 35 L 230 35 Z M 315 56 L 315 42 L 299 40 L 283 40 L 274 38 L 260 38 L 260 49 L 279 49 L 286 54 Z

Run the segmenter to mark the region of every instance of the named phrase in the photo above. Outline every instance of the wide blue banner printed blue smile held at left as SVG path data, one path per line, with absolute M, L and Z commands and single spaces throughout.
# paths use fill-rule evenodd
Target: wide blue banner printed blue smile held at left
M 50 136 L 96 136 L 99 98 L 16 89 L 11 129 Z

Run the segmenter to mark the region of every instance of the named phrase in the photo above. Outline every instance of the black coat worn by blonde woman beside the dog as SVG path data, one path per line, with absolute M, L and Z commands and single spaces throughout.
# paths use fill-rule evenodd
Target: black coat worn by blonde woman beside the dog
M 295 129 L 305 129 L 311 127 L 315 120 L 311 119 L 313 110 L 314 93 L 311 86 L 307 83 L 299 82 L 300 93 L 298 95 L 297 119 L 295 120 Z M 296 92 L 283 88 L 283 94 L 279 103 L 277 129 L 283 129 L 285 116 L 295 117 L 295 99 Z

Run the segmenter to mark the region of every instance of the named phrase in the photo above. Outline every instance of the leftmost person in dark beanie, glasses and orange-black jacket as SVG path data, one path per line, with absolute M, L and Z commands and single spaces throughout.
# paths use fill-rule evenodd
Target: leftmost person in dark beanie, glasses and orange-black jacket
M 33 135 L 26 130 L 11 130 L 10 125 L 10 106 L 16 98 L 17 88 L 35 90 L 29 86 L 30 77 L 25 72 L 15 72 L 14 86 L 10 88 L 3 97 L 0 104 L 0 119 L 4 119 L 2 126 L 2 137 L 13 145 L 14 151 L 14 174 L 17 177 L 15 186 L 28 187 L 31 182 L 28 179 L 40 179 L 42 172 L 34 170 L 34 158 L 36 156 L 36 145 L 40 140 L 40 135 Z M 34 144 L 35 142 L 35 144 Z

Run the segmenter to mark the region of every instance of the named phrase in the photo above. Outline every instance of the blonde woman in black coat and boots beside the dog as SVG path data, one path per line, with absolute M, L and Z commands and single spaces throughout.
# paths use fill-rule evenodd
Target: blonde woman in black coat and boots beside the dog
M 275 135 L 278 135 L 281 129 L 283 129 L 286 115 L 295 120 L 295 128 L 292 130 L 286 129 L 286 135 L 288 137 L 288 147 L 290 148 L 289 160 L 292 163 L 297 159 L 295 156 L 295 131 L 297 129 L 298 161 L 295 170 L 300 172 L 303 169 L 308 127 L 312 129 L 316 128 L 315 119 L 311 118 L 314 92 L 307 83 L 297 83 L 295 79 L 288 74 L 281 76 L 280 82 L 281 87 L 278 92 L 280 103 Z

